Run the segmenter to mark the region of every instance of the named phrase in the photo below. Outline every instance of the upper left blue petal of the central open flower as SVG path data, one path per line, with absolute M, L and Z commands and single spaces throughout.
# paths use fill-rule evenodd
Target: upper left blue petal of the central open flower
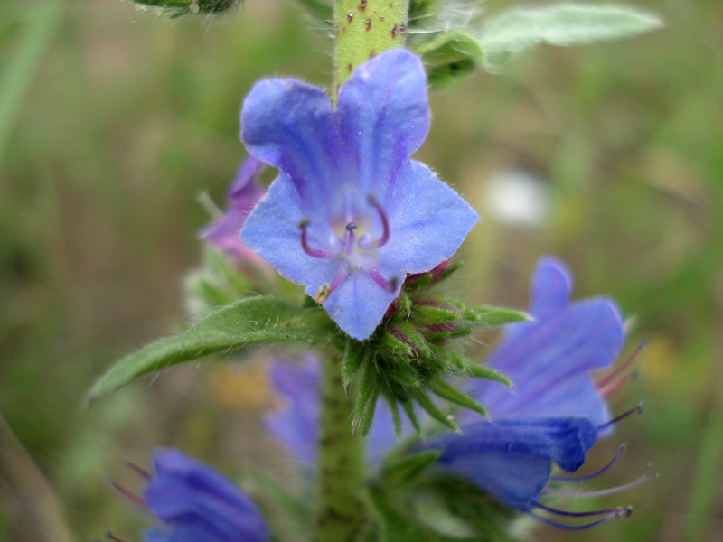
M 241 140 L 258 160 L 288 175 L 305 214 L 329 216 L 327 192 L 343 178 L 337 124 L 323 89 L 294 79 L 263 80 L 244 101 Z

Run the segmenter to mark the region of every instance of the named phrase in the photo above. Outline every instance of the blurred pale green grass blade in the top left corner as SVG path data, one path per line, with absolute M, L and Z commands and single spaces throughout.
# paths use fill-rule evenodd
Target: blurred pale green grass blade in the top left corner
M 64 5 L 65 0 L 49 0 L 40 5 L 16 5 L 16 9 L 24 8 L 28 14 L 14 56 L 0 77 L 0 164 L 10 133 L 20 115 L 23 98 L 28 94 L 33 73 L 51 42 Z

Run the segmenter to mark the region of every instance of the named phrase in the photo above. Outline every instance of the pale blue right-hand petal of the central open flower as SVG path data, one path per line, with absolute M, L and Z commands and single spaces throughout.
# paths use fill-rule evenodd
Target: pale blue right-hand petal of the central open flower
M 408 161 L 384 201 L 389 242 L 380 248 L 384 276 L 424 273 L 452 257 L 479 220 L 477 211 L 425 164 Z

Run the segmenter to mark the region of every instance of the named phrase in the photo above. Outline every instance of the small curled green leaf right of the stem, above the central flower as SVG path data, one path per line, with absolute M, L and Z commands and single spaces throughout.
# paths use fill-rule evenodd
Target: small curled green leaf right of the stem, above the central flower
M 480 43 L 461 30 L 441 33 L 415 49 L 427 64 L 427 80 L 433 89 L 449 87 L 465 79 L 483 62 Z

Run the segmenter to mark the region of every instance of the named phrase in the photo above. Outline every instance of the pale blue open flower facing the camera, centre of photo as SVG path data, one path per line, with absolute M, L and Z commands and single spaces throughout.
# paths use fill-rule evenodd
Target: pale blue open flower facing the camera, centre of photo
M 334 109 L 323 89 L 263 80 L 241 111 L 249 153 L 279 170 L 241 239 L 366 339 L 408 274 L 451 257 L 479 217 L 410 159 L 429 129 L 427 79 L 409 51 L 354 71 Z

